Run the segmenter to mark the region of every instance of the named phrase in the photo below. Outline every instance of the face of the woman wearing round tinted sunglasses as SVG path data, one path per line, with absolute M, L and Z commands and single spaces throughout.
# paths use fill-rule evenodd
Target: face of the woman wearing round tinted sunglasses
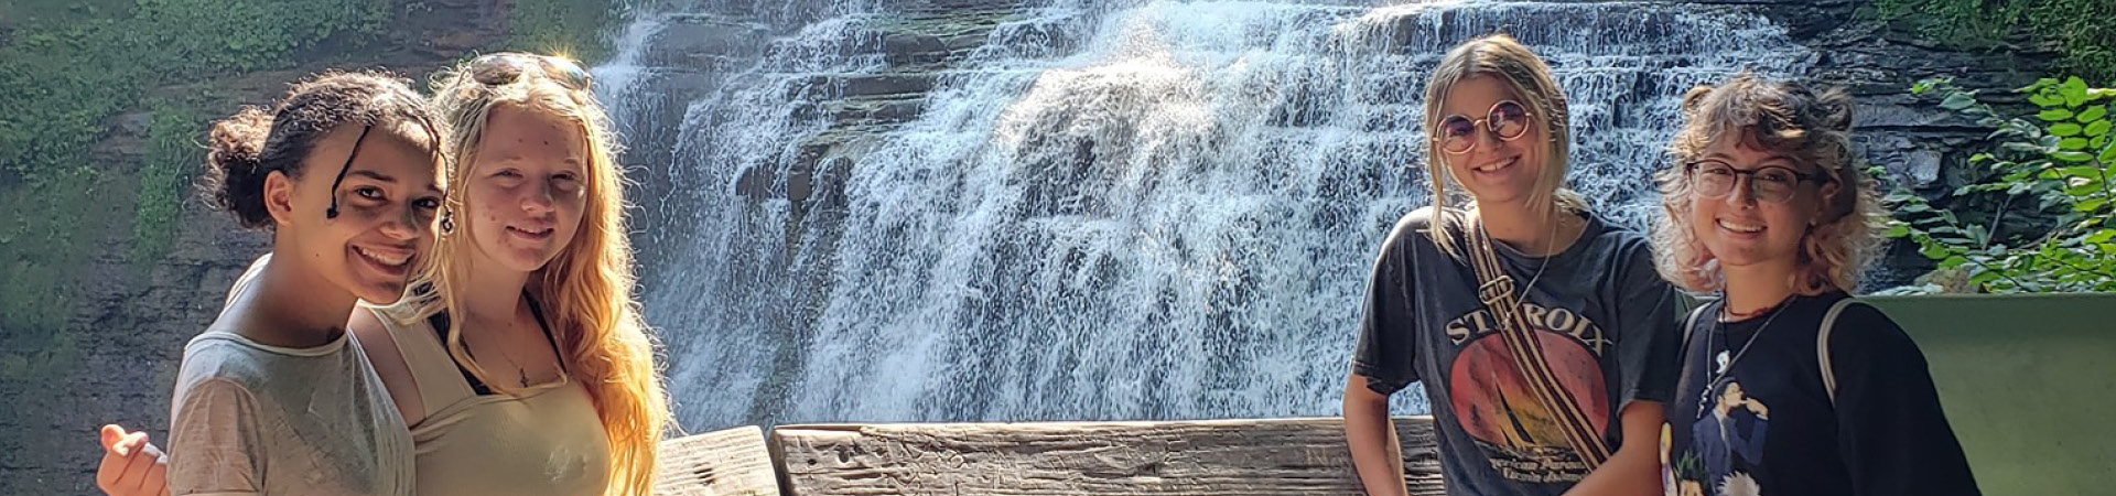
M 1519 203 L 1547 193 L 1543 182 L 1545 167 L 1549 167 L 1549 131 L 1543 125 L 1545 117 L 1526 114 L 1521 121 L 1526 129 L 1519 138 L 1500 140 L 1500 131 L 1492 131 L 1490 121 L 1504 121 L 1509 112 L 1500 102 L 1515 102 L 1519 108 L 1528 108 L 1526 100 L 1513 91 L 1504 81 L 1496 76 L 1471 76 L 1447 89 L 1447 98 L 1441 104 L 1439 119 L 1464 117 L 1475 123 L 1466 134 L 1456 129 L 1458 136 L 1449 136 L 1449 127 L 1437 125 L 1439 129 L 1428 129 L 1441 140 L 1469 140 L 1469 150 L 1449 153 L 1439 150 L 1439 159 L 1447 165 L 1447 174 L 1469 189 L 1477 203 Z M 1492 112 L 1500 106 L 1502 112 Z M 1435 142 L 1433 146 L 1443 146 Z

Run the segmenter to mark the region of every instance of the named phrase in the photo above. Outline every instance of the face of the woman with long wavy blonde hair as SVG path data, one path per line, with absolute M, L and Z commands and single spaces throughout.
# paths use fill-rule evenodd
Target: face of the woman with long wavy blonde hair
M 559 256 L 586 208 L 586 163 L 580 123 L 493 108 L 463 176 L 476 252 L 510 271 L 537 271 Z

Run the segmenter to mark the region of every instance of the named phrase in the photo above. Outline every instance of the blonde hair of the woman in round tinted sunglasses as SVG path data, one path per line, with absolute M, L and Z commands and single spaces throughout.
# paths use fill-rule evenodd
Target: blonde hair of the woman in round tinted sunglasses
M 1557 78 L 1551 76 L 1551 66 L 1543 64 L 1543 57 L 1536 57 L 1534 51 L 1507 34 L 1490 34 L 1456 45 L 1447 51 L 1447 57 L 1433 68 L 1433 76 L 1426 78 L 1426 180 L 1433 187 L 1433 206 L 1445 208 L 1449 197 L 1458 195 L 1454 191 L 1456 178 L 1443 165 L 1447 159 L 1445 150 L 1435 146 L 1430 140 L 1430 136 L 1439 129 L 1441 119 L 1445 119 L 1445 114 L 1441 114 L 1441 104 L 1447 102 L 1447 91 L 1454 89 L 1456 83 L 1477 76 L 1492 76 L 1519 95 L 1521 104 L 1528 106 L 1528 112 L 1532 114 L 1530 119 L 1543 125 L 1543 136 L 1549 140 L 1545 144 L 1549 163 L 1543 165 L 1543 176 L 1536 178 L 1536 191 L 1528 201 L 1545 212 L 1587 212 L 1587 199 L 1581 199 L 1579 193 L 1564 187 L 1566 172 L 1572 165 L 1572 127 L 1568 125 L 1570 117 L 1566 108 L 1566 93 L 1557 87 Z M 1452 223 L 1456 223 L 1454 216 L 1447 216 L 1445 212 L 1435 214 L 1435 229 L 1428 229 L 1428 235 L 1433 237 L 1433 244 L 1441 246 L 1441 250 L 1460 254 L 1454 237 L 1447 235 L 1454 229 L 1460 229 Z

